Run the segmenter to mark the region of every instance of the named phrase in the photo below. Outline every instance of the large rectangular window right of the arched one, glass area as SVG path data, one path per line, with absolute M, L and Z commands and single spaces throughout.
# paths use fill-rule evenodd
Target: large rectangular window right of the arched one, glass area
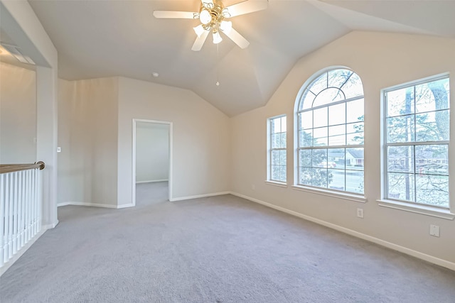
M 449 208 L 449 76 L 388 89 L 385 197 Z

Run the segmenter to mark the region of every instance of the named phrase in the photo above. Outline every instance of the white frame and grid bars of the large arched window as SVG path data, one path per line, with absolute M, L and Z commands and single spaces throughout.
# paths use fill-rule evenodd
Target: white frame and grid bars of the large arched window
M 361 89 L 361 94 L 354 94 L 353 97 L 349 97 L 349 95 L 348 95 L 348 97 L 346 97 L 346 94 L 344 94 L 344 92 L 343 92 L 342 98 L 339 98 L 336 101 L 331 101 L 326 104 L 319 104 L 319 105 L 315 104 L 314 102 L 316 101 L 317 96 L 319 96 L 319 94 L 321 92 L 323 92 L 326 89 L 331 87 L 331 85 L 327 85 L 325 88 L 323 87 L 323 89 L 320 89 L 318 92 L 316 92 L 316 94 L 313 93 L 315 95 L 315 97 L 312 100 L 311 106 L 308 106 L 307 103 L 303 104 L 303 102 L 309 102 L 309 99 L 306 98 L 306 94 L 308 94 L 308 92 L 311 91 L 311 89 L 314 89 L 315 84 L 317 84 L 318 80 L 321 79 L 323 76 L 326 76 L 327 83 L 328 83 L 329 74 L 332 75 L 333 72 L 336 72 L 336 71 L 348 72 L 348 73 L 350 73 L 349 77 L 355 75 L 355 77 L 357 77 L 356 79 L 358 80 L 357 81 L 358 84 L 360 84 L 360 86 L 357 86 L 357 87 L 358 87 L 358 89 Z M 334 78 L 331 78 L 331 79 L 334 79 Z M 346 84 L 346 82 L 345 82 L 345 84 Z M 339 87 L 336 87 L 336 88 L 342 89 L 343 85 L 344 84 L 341 84 L 341 85 L 339 85 Z M 296 147 L 294 150 L 294 188 L 295 189 L 301 189 L 301 190 L 305 190 L 305 191 L 309 191 L 309 192 L 315 192 L 315 191 L 316 192 L 325 192 L 326 194 L 333 195 L 336 197 L 342 196 L 342 197 L 346 198 L 347 196 L 349 196 L 347 199 L 353 199 L 354 201 L 358 201 L 358 202 L 365 202 L 365 197 L 363 197 L 363 193 L 364 193 L 363 192 L 363 178 L 364 178 L 363 166 L 348 167 L 347 165 L 342 165 L 342 167 L 337 168 L 337 167 L 331 167 L 331 160 L 327 160 L 327 158 L 328 158 L 327 156 L 329 155 L 329 150 L 331 152 L 333 152 L 336 149 L 338 149 L 338 150 L 343 149 L 343 152 L 344 152 L 343 161 L 346 160 L 346 150 L 348 150 L 348 149 L 349 150 L 356 149 L 356 148 L 361 149 L 361 151 L 363 153 L 363 150 L 364 150 L 363 141 L 361 143 L 359 142 L 357 144 L 353 144 L 352 142 L 348 143 L 347 141 L 344 144 L 331 144 L 330 142 L 328 142 L 329 138 L 331 138 L 331 136 L 329 136 L 329 133 L 328 133 L 328 130 L 329 130 L 329 128 L 331 128 L 331 126 L 340 126 L 341 125 L 341 126 L 345 127 L 345 130 L 346 130 L 347 126 L 353 126 L 354 122 L 351 121 L 352 119 L 349 120 L 348 116 L 347 116 L 348 115 L 347 106 L 348 106 L 348 104 L 352 105 L 354 101 L 361 102 L 361 105 L 362 105 L 362 107 L 361 107 L 361 112 L 362 112 L 361 118 L 362 119 L 358 121 L 358 122 L 360 122 L 360 124 L 358 124 L 358 125 L 361 125 L 361 132 L 359 132 L 358 135 L 363 138 L 363 99 L 364 99 L 363 85 L 362 85 L 360 77 L 355 72 L 353 72 L 352 70 L 350 70 L 346 67 L 329 67 L 329 68 L 326 68 L 319 72 L 316 72 L 312 77 L 310 77 L 304 83 L 304 85 L 302 85 L 302 87 L 299 91 L 299 94 L 296 97 L 295 104 L 294 104 L 294 113 L 295 113 L 294 146 Z M 319 101 L 321 101 L 321 100 L 319 100 Z M 328 112 L 329 107 L 337 106 L 338 104 L 342 104 L 341 106 L 345 106 L 344 112 L 345 112 L 346 120 L 344 121 L 344 123 L 332 125 L 328 121 L 330 118 L 327 116 L 327 125 L 326 125 L 327 143 L 325 145 L 324 144 L 322 144 L 322 145 L 314 144 L 314 142 L 315 142 L 314 138 L 311 138 L 311 141 L 312 141 L 311 146 L 304 146 L 304 144 L 301 143 L 301 141 L 303 141 L 303 139 L 301 139 L 301 131 L 303 131 L 303 128 L 304 128 L 304 126 L 302 124 L 302 120 L 301 120 L 301 119 L 303 119 L 302 113 L 311 112 L 312 113 L 311 115 L 314 116 L 315 110 L 326 109 Z M 331 109 L 333 109 L 333 108 L 331 107 Z M 315 128 L 318 131 L 320 130 L 319 129 L 320 127 L 314 126 L 313 121 L 311 121 L 311 124 L 312 124 L 311 128 L 306 128 L 305 130 L 311 129 L 311 133 L 314 133 Z M 358 130 L 360 131 L 360 128 Z M 352 135 L 353 135 L 352 132 L 350 133 L 349 131 L 346 131 L 344 133 L 345 138 L 347 138 L 346 133 L 349 136 L 351 136 L 351 138 L 352 138 Z M 309 162 L 308 158 L 305 158 L 303 155 L 303 154 L 308 155 L 309 153 L 314 153 L 314 152 L 322 153 L 323 150 L 326 150 L 326 160 L 323 162 L 314 163 L 311 156 L 310 156 L 311 162 Z M 333 154 L 333 153 L 331 153 L 331 154 Z M 316 157 L 314 159 L 316 159 Z M 306 161 L 306 163 L 304 163 L 304 160 Z M 361 164 L 363 165 L 363 158 L 362 158 Z M 321 167 L 321 165 L 323 167 Z M 321 175 L 323 175 L 322 172 L 325 170 L 326 178 L 327 178 L 326 184 L 312 183 L 313 180 L 317 179 L 316 177 L 312 178 L 313 175 L 311 175 L 311 182 L 307 182 L 308 178 L 306 178 L 306 180 L 304 180 L 305 178 L 302 178 L 305 176 L 304 171 L 303 171 L 304 168 L 306 169 L 306 172 L 310 171 L 309 175 L 312 174 L 313 170 L 315 172 L 317 172 L 317 171 L 321 172 L 321 174 L 319 175 L 319 179 L 321 179 Z M 308 169 L 310 169 L 310 170 L 308 170 Z M 342 172 L 343 188 L 341 188 L 341 186 L 336 186 L 337 184 L 333 184 L 333 182 L 328 180 L 328 175 L 331 174 L 332 172 L 337 172 L 337 173 Z M 358 182 L 358 186 L 356 186 L 357 187 L 356 189 L 353 189 L 353 187 L 346 188 L 347 180 L 349 182 L 351 182 L 350 180 L 352 179 L 352 177 L 349 175 L 350 173 L 354 173 L 359 176 L 358 180 L 360 180 L 360 181 Z M 314 174 L 314 176 L 317 176 L 317 174 Z M 340 179 L 340 177 L 338 176 L 338 181 L 339 181 L 339 179 Z

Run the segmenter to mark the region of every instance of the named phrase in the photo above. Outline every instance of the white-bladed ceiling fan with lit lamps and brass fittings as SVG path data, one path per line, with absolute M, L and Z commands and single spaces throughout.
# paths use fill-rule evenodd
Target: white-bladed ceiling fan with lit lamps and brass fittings
M 243 38 L 240 33 L 232 28 L 231 21 L 225 19 L 235 16 L 244 15 L 245 13 L 253 13 L 267 9 L 267 1 L 243 1 L 231 6 L 223 6 L 220 0 L 201 0 L 199 11 L 154 11 L 155 18 L 182 18 L 182 19 L 198 19 L 200 25 L 196 26 L 194 31 L 198 36 L 194 41 L 191 50 L 200 50 L 210 32 L 213 34 L 213 43 L 220 43 L 220 31 L 227 35 L 240 48 L 247 48 L 250 43 Z

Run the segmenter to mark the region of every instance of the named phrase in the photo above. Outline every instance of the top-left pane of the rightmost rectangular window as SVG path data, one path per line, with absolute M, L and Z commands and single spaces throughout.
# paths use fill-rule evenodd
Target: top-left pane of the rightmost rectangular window
M 387 116 L 414 114 L 414 87 L 387 92 Z

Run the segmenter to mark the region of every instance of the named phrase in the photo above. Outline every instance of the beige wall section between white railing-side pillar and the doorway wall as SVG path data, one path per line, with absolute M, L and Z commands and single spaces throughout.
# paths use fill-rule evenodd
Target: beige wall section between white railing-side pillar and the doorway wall
M 58 203 L 117 206 L 118 78 L 60 80 Z

